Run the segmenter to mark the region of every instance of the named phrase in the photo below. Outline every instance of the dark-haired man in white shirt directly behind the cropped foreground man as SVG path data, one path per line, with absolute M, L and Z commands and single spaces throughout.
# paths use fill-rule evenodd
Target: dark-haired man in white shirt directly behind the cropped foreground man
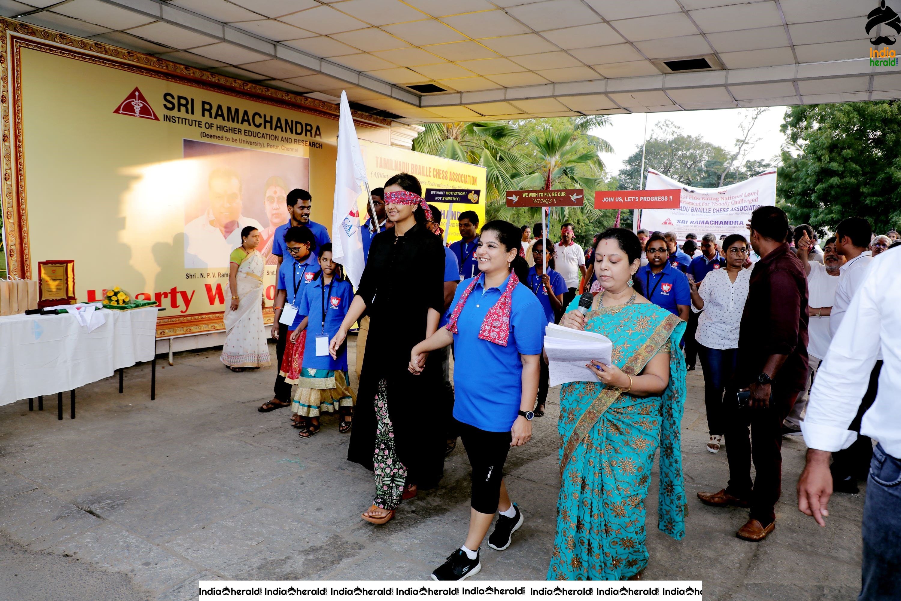
M 854 294 L 860 288 L 867 277 L 869 262 L 873 260 L 869 252 L 869 238 L 873 236 L 873 230 L 869 221 L 863 217 L 848 217 L 843 219 L 835 228 L 835 250 L 845 258 L 842 265 L 842 277 L 835 289 L 833 310 L 829 317 L 829 329 L 833 337 L 842 324 L 845 312 L 851 305 Z M 881 359 L 881 356 L 877 356 Z M 882 365 L 879 362 L 875 369 Z M 860 411 L 857 419 L 851 424 L 852 430 L 860 429 L 860 416 L 869 409 L 875 398 L 874 386 L 867 390 L 860 402 Z M 855 399 L 856 401 L 856 399 Z M 839 451 L 833 455 L 833 480 L 835 490 L 842 493 L 856 494 L 859 492 L 857 481 L 866 479 L 869 457 L 872 454 L 872 442 L 865 436 L 858 437 L 850 448 Z

